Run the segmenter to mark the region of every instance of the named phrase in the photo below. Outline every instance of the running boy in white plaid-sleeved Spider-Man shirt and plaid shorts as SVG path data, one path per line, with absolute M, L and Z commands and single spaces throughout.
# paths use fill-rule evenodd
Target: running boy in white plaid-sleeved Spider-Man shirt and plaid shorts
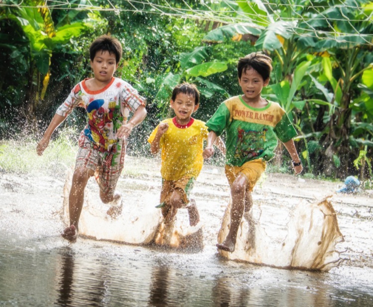
M 38 155 L 48 146 L 53 131 L 66 119 L 74 107 L 87 111 L 87 125 L 79 137 L 72 187 L 69 195 L 70 226 L 62 236 L 75 242 L 84 201 L 84 190 L 90 177 L 100 188 L 100 199 L 112 205 L 107 214 L 120 214 L 122 197 L 115 192 L 124 165 L 126 138 L 146 117 L 146 100 L 127 82 L 113 77 L 122 56 L 120 42 L 102 35 L 90 46 L 94 77 L 78 83 L 66 101 L 57 109 L 52 121 L 37 145 Z M 127 121 L 129 112 L 132 118 Z

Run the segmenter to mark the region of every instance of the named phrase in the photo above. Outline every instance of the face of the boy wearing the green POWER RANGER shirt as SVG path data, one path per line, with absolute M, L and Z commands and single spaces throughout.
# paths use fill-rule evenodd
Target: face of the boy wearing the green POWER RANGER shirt
M 268 85 L 269 79 L 263 80 L 263 77 L 253 68 L 242 72 L 238 83 L 244 93 L 245 101 L 252 102 L 259 99 L 262 89 Z

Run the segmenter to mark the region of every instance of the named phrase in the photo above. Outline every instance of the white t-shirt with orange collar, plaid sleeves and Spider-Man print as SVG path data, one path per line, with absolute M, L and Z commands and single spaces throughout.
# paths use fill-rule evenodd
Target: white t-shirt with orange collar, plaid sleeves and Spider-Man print
M 79 138 L 80 146 L 89 141 L 100 152 L 111 151 L 118 142 L 116 131 L 127 122 L 129 111 L 135 112 L 140 105 L 145 106 L 146 100 L 119 78 L 112 78 L 99 91 L 90 91 L 86 86 L 87 80 L 74 87 L 56 113 L 66 117 L 74 107 L 84 107 L 87 111 L 87 125 Z

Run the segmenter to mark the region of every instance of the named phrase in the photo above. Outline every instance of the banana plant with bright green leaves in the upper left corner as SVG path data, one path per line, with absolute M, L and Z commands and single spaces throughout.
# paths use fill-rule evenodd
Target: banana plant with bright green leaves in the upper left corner
M 15 1 L 11 1 L 14 2 Z M 84 22 L 55 26 L 51 12 L 42 0 L 26 1 L 28 6 L 11 7 L 1 14 L 1 19 L 11 20 L 22 28 L 29 44 L 28 84 L 23 100 L 23 115 L 27 124 L 36 129 L 36 113 L 44 99 L 50 80 L 50 63 L 53 50 L 86 28 Z M 37 6 L 41 8 L 37 8 Z

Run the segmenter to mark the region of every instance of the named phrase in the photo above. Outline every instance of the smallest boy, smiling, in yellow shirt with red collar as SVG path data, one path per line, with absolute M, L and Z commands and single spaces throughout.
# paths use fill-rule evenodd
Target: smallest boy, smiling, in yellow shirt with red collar
M 176 116 L 163 120 L 148 138 L 152 154 L 161 150 L 162 215 L 165 223 L 172 223 L 179 208 L 187 208 L 189 224 L 199 222 L 199 213 L 189 193 L 203 166 L 203 140 L 208 131 L 203 121 L 191 114 L 199 107 L 199 92 L 188 83 L 176 86 L 172 93 L 171 107 Z M 222 151 L 223 143 L 218 143 Z

